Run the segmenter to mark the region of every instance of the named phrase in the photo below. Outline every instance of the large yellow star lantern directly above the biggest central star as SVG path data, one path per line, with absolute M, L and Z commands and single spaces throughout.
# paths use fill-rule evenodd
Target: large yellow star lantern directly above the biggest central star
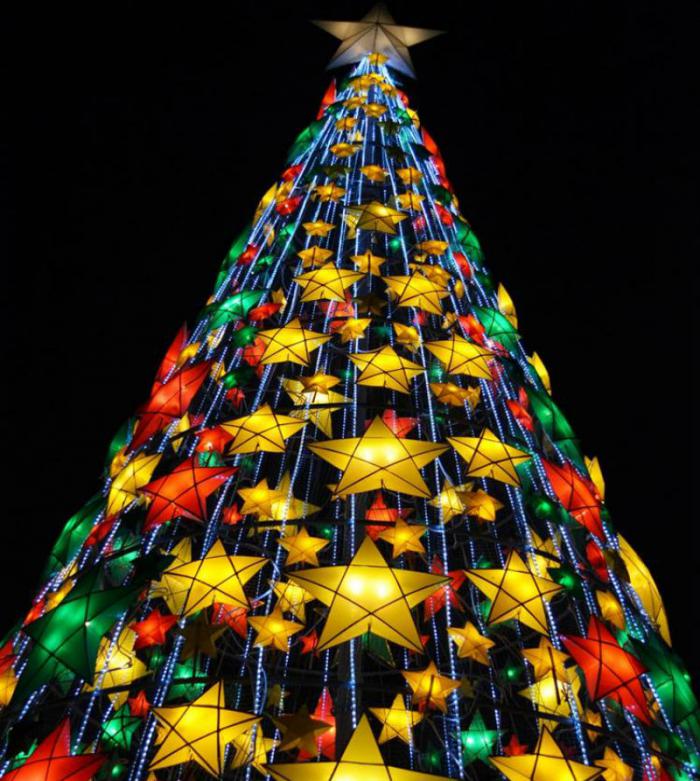
M 386 488 L 426 499 L 430 491 L 420 469 L 447 450 L 439 442 L 397 437 L 380 417 L 361 437 L 315 442 L 308 448 L 342 470 L 336 495 Z

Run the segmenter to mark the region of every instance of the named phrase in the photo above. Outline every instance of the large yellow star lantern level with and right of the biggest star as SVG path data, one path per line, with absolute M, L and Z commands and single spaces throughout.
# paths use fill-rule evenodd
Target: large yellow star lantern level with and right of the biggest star
M 479 591 L 491 600 L 489 625 L 516 618 L 541 634 L 549 634 L 544 604 L 563 587 L 533 575 L 516 551 L 508 554 L 503 569 L 468 569 L 465 572 Z

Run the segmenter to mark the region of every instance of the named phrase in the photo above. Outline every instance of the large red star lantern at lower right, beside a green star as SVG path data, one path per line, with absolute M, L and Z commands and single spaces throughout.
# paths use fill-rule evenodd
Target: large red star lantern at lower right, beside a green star
M 649 709 L 639 676 L 646 667 L 620 646 L 603 622 L 591 616 L 588 636 L 563 636 L 562 641 L 583 670 L 588 694 L 593 700 L 611 697 L 644 724 L 650 724 Z

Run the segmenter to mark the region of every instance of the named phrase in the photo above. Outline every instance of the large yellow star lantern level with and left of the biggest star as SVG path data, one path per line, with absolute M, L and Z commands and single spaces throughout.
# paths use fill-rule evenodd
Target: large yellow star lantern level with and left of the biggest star
M 260 556 L 229 556 L 217 540 L 201 559 L 173 562 L 163 571 L 155 593 L 171 613 L 189 616 L 214 602 L 249 607 L 243 587 L 267 563 Z

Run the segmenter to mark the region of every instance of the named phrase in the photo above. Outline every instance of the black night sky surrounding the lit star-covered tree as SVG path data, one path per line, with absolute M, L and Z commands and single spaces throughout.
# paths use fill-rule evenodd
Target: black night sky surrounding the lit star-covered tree
M 413 50 L 412 103 L 697 668 L 697 205 L 662 5 L 391 10 L 449 31 Z M 3 25 L 16 107 L 2 192 L 2 628 L 29 607 L 111 435 L 315 116 L 335 44 L 306 20 L 368 7 L 70 6 Z

